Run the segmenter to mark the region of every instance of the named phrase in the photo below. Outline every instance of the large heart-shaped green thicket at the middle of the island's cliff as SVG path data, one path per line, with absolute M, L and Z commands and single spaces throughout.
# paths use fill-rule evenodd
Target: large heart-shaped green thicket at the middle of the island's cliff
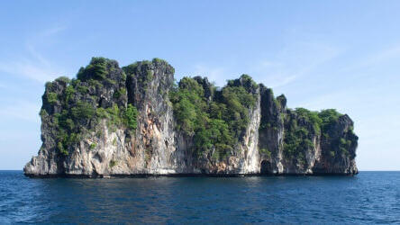
M 228 81 L 222 90 L 211 85 L 214 94 L 209 101 L 199 82 L 184 77 L 170 94 L 177 129 L 193 137 L 197 157 L 212 154 L 214 159 L 222 159 L 231 153 L 244 134 L 249 109 L 257 101 L 256 95 L 252 94 L 257 84 L 250 76 L 243 75 Z

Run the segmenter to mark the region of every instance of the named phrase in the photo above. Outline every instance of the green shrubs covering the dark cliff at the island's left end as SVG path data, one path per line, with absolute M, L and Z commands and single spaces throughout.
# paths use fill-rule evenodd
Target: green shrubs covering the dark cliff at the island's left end
M 117 82 L 123 82 L 126 76 L 122 71 L 114 74 L 116 79 L 111 79 L 109 74 L 114 71 L 116 62 L 107 58 L 92 58 L 90 64 L 79 69 L 77 79 L 70 80 L 68 77 L 61 76 L 55 82 L 64 88 L 63 93 L 52 92 L 56 83 L 46 83 L 46 95 L 48 103 L 61 103 L 61 112 L 50 114 L 45 109 L 41 109 L 42 120 L 47 120 L 50 116 L 49 126 L 56 137 L 59 154 L 68 156 L 71 149 L 78 141 L 85 139 L 91 132 L 96 131 L 96 137 L 103 135 L 101 129 L 97 129 L 101 124 L 100 120 L 105 119 L 109 129 L 115 130 L 118 127 L 126 127 L 132 132 L 137 126 L 137 110 L 132 104 L 125 107 L 113 103 L 109 107 L 101 107 L 102 99 L 98 95 L 101 88 L 117 88 Z M 121 79 L 120 79 L 121 78 Z M 107 85 L 107 86 L 105 86 Z M 121 86 L 121 85 L 119 85 Z M 115 90 L 115 89 L 114 89 Z M 126 95 L 125 88 L 117 88 L 114 98 L 120 99 Z M 95 148 L 95 143 L 90 144 L 89 148 Z

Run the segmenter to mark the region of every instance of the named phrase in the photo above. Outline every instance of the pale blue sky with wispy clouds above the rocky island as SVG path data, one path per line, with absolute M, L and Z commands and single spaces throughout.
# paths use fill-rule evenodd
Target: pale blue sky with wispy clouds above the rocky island
M 400 170 L 400 1 L 1 1 L 0 169 L 41 146 L 41 95 L 90 58 L 249 74 L 290 108 L 355 122 L 359 170 Z

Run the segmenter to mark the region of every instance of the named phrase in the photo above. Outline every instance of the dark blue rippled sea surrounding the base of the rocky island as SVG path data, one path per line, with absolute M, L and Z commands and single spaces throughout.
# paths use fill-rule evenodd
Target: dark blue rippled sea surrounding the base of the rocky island
M 32 179 L 0 171 L 5 223 L 400 223 L 400 172 Z

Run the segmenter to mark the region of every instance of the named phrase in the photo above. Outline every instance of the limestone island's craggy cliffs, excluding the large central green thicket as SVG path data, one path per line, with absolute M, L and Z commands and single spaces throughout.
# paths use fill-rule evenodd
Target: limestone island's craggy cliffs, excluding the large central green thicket
M 121 68 L 114 60 L 93 58 L 79 70 L 77 79 L 59 77 L 46 84 L 41 107 L 43 143 L 38 156 L 24 166 L 24 174 L 358 173 L 358 138 L 348 115 L 288 109 L 284 95 L 275 97 L 261 84 L 249 87 L 243 77 L 229 85 L 244 87 L 255 102 L 243 112 L 246 126 L 235 132 L 237 142 L 215 157 L 213 145 L 199 151 L 198 138 L 180 126 L 174 111 L 177 104 L 170 99 L 177 88 L 174 68 L 167 62 L 155 58 Z M 223 99 L 223 91 L 206 78 L 192 79 L 202 87 L 205 105 Z

